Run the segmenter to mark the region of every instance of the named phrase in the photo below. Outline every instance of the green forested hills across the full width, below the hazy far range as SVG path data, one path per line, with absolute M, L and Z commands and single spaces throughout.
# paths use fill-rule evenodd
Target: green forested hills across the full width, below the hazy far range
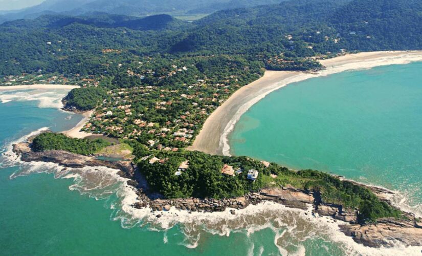
M 167 15 L 104 13 L 16 20 L 0 26 L 0 75 L 113 74 L 101 65 L 151 54 L 234 54 L 262 61 L 268 69 L 305 70 L 315 68 L 307 58 L 342 49 L 421 49 L 421 5 L 417 0 L 297 0 L 218 11 L 194 23 Z M 105 54 L 106 49 L 119 54 Z

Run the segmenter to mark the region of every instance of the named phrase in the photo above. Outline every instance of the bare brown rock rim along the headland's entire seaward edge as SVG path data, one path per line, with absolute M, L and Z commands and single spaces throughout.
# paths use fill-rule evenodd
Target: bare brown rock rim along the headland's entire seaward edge
M 357 243 L 369 247 L 392 247 L 399 242 L 406 246 L 422 246 L 422 220 L 417 219 L 411 213 L 404 213 L 402 219 L 383 218 L 376 223 L 359 224 L 358 209 L 346 208 L 343 205 L 330 204 L 322 200 L 319 191 L 306 191 L 292 186 L 271 187 L 260 189 L 256 193 L 249 193 L 238 198 L 228 199 L 162 199 L 160 196 L 150 193 L 142 175 L 136 171 L 136 166 L 130 161 L 106 161 L 99 160 L 95 156 L 83 156 L 66 151 L 33 152 L 31 139 L 28 142 L 13 145 L 13 152 L 20 155 L 25 162 L 53 162 L 64 167 L 81 168 L 84 166 L 106 166 L 119 169 L 119 175 L 127 178 L 128 185 L 137 189 L 139 202 L 133 207 L 149 207 L 157 212 L 160 218 L 162 211 L 170 210 L 171 207 L 189 212 L 215 212 L 231 209 L 233 215 L 237 211 L 249 205 L 257 205 L 265 201 L 271 201 L 290 208 L 306 210 L 312 206 L 314 216 L 328 216 L 334 221 L 342 221 L 339 225 L 342 232 L 352 237 Z M 356 183 L 357 184 L 357 183 Z M 389 203 L 386 199 L 392 192 L 379 187 L 358 184 L 370 189 L 381 200 Z

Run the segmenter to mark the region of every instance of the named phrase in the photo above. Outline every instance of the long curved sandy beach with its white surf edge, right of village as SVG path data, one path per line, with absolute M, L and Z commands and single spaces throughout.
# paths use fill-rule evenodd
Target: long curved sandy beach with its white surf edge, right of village
M 269 93 L 290 83 L 343 71 L 407 64 L 414 61 L 422 61 L 422 51 L 347 54 L 321 60 L 321 64 L 326 68 L 316 74 L 299 71 L 266 71 L 260 79 L 237 90 L 208 117 L 201 133 L 196 137 L 193 145 L 188 147 L 188 150 L 216 155 L 230 155 L 227 137 L 233 131 L 234 125 L 240 119 L 240 116 Z

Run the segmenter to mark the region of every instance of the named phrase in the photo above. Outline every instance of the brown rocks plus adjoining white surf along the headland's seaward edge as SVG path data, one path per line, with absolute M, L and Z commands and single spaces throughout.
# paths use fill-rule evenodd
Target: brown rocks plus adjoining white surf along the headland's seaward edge
M 151 225 L 157 224 L 160 228 L 167 229 L 176 223 L 186 222 L 199 225 L 204 220 L 210 221 L 209 224 L 215 227 L 214 221 L 218 223 L 219 220 L 233 220 L 236 223 L 239 218 L 253 218 L 265 212 L 275 214 L 294 211 L 295 216 L 299 214 L 303 221 L 310 221 L 312 224 L 327 222 L 325 227 L 329 227 L 336 234 L 336 238 L 330 238 L 333 241 L 347 243 L 356 251 L 394 252 L 397 247 L 406 246 L 408 251 L 415 252 L 422 248 L 418 239 L 422 236 L 421 223 L 411 213 L 404 212 L 407 217 L 405 219 L 384 218 L 377 224 L 362 225 L 357 222 L 358 211 L 355 209 L 346 209 L 341 204 L 326 203 L 316 191 L 306 191 L 290 186 L 262 188 L 256 193 L 220 200 L 149 199 L 143 189 L 138 190 L 139 181 L 134 176 L 134 167 L 128 162 L 107 162 L 64 151 L 32 152 L 29 143 L 23 141 L 44 130 L 40 129 L 24 136 L 17 140 L 20 142 L 16 144 L 12 142 L 12 148 L 6 152 L 5 156 L 11 158 L 11 162 L 48 164 L 59 172 L 65 172 L 65 177 L 68 178 L 75 178 L 75 175 L 78 175 L 73 174 L 72 170 L 76 169 L 105 170 L 98 169 L 98 166 L 105 167 L 107 170 L 120 169 L 112 175 L 116 174 L 116 177 L 123 182 L 122 184 L 126 184 L 122 186 L 125 191 L 121 205 L 123 211 L 129 214 L 130 218 L 143 220 Z M 394 194 L 392 191 L 368 185 L 360 186 L 368 188 L 381 200 L 386 200 L 388 204 L 391 203 L 388 195 Z M 249 223 L 245 224 L 247 224 L 245 227 L 251 228 Z M 225 221 L 224 225 L 222 227 L 228 232 L 234 230 L 230 225 L 228 226 L 228 222 Z

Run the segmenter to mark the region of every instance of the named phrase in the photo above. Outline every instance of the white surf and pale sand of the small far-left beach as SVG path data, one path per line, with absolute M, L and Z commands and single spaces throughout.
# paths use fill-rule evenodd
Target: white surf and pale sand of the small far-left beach
M 0 101 L 7 103 L 11 101 L 38 101 L 39 108 L 60 109 L 63 106 L 61 99 L 66 96 L 69 90 L 65 89 L 30 89 L 0 92 Z

